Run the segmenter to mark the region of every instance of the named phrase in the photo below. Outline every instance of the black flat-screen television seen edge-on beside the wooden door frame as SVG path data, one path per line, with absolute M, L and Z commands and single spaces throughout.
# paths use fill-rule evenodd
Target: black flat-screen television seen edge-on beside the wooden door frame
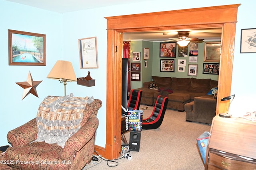
M 129 59 L 122 60 L 122 106 L 127 110 L 127 97 L 128 97 L 128 64 Z M 121 108 L 122 109 L 122 108 Z M 125 111 L 122 109 L 122 115 Z

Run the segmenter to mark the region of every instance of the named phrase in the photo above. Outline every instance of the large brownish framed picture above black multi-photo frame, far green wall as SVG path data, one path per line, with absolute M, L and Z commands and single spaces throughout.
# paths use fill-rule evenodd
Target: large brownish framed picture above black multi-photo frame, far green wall
M 220 42 L 205 42 L 204 45 L 204 61 L 218 62 L 220 61 Z

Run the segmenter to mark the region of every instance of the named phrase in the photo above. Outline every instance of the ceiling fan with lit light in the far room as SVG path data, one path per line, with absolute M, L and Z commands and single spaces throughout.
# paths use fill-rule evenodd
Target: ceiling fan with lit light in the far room
M 170 38 L 167 41 L 177 41 L 180 47 L 185 47 L 190 41 L 203 41 L 204 39 L 199 38 L 188 38 L 189 31 L 178 31 L 178 38 Z M 166 41 L 163 41 L 166 42 Z

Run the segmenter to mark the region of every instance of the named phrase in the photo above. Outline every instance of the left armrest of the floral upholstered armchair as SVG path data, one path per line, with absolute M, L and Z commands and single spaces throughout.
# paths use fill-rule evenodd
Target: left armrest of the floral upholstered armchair
M 36 118 L 34 118 L 24 125 L 9 131 L 7 134 L 7 141 L 12 147 L 23 147 L 36 140 L 37 133 Z

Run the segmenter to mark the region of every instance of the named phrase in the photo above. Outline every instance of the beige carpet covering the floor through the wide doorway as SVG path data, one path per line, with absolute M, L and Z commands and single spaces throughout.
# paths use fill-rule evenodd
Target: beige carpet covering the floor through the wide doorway
M 140 106 L 140 110 L 145 105 Z M 144 111 L 149 117 L 153 107 Z M 204 170 L 204 162 L 198 150 L 196 139 L 210 131 L 210 125 L 187 122 L 186 112 L 167 109 L 162 125 L 158 129 L 142 130 L 140 151 L 131 151 L 131 160 L 120 158 L 117 163 L 101 160 L 92 161 L 83 170 Z M 125 134 L 129 142 L 130 132 Z M 109 165 L 109 166 L 108 166 Z M 117 166 L 115 166 L 117 165 Z M 110 167 L 114 166 L 114 167 Z

